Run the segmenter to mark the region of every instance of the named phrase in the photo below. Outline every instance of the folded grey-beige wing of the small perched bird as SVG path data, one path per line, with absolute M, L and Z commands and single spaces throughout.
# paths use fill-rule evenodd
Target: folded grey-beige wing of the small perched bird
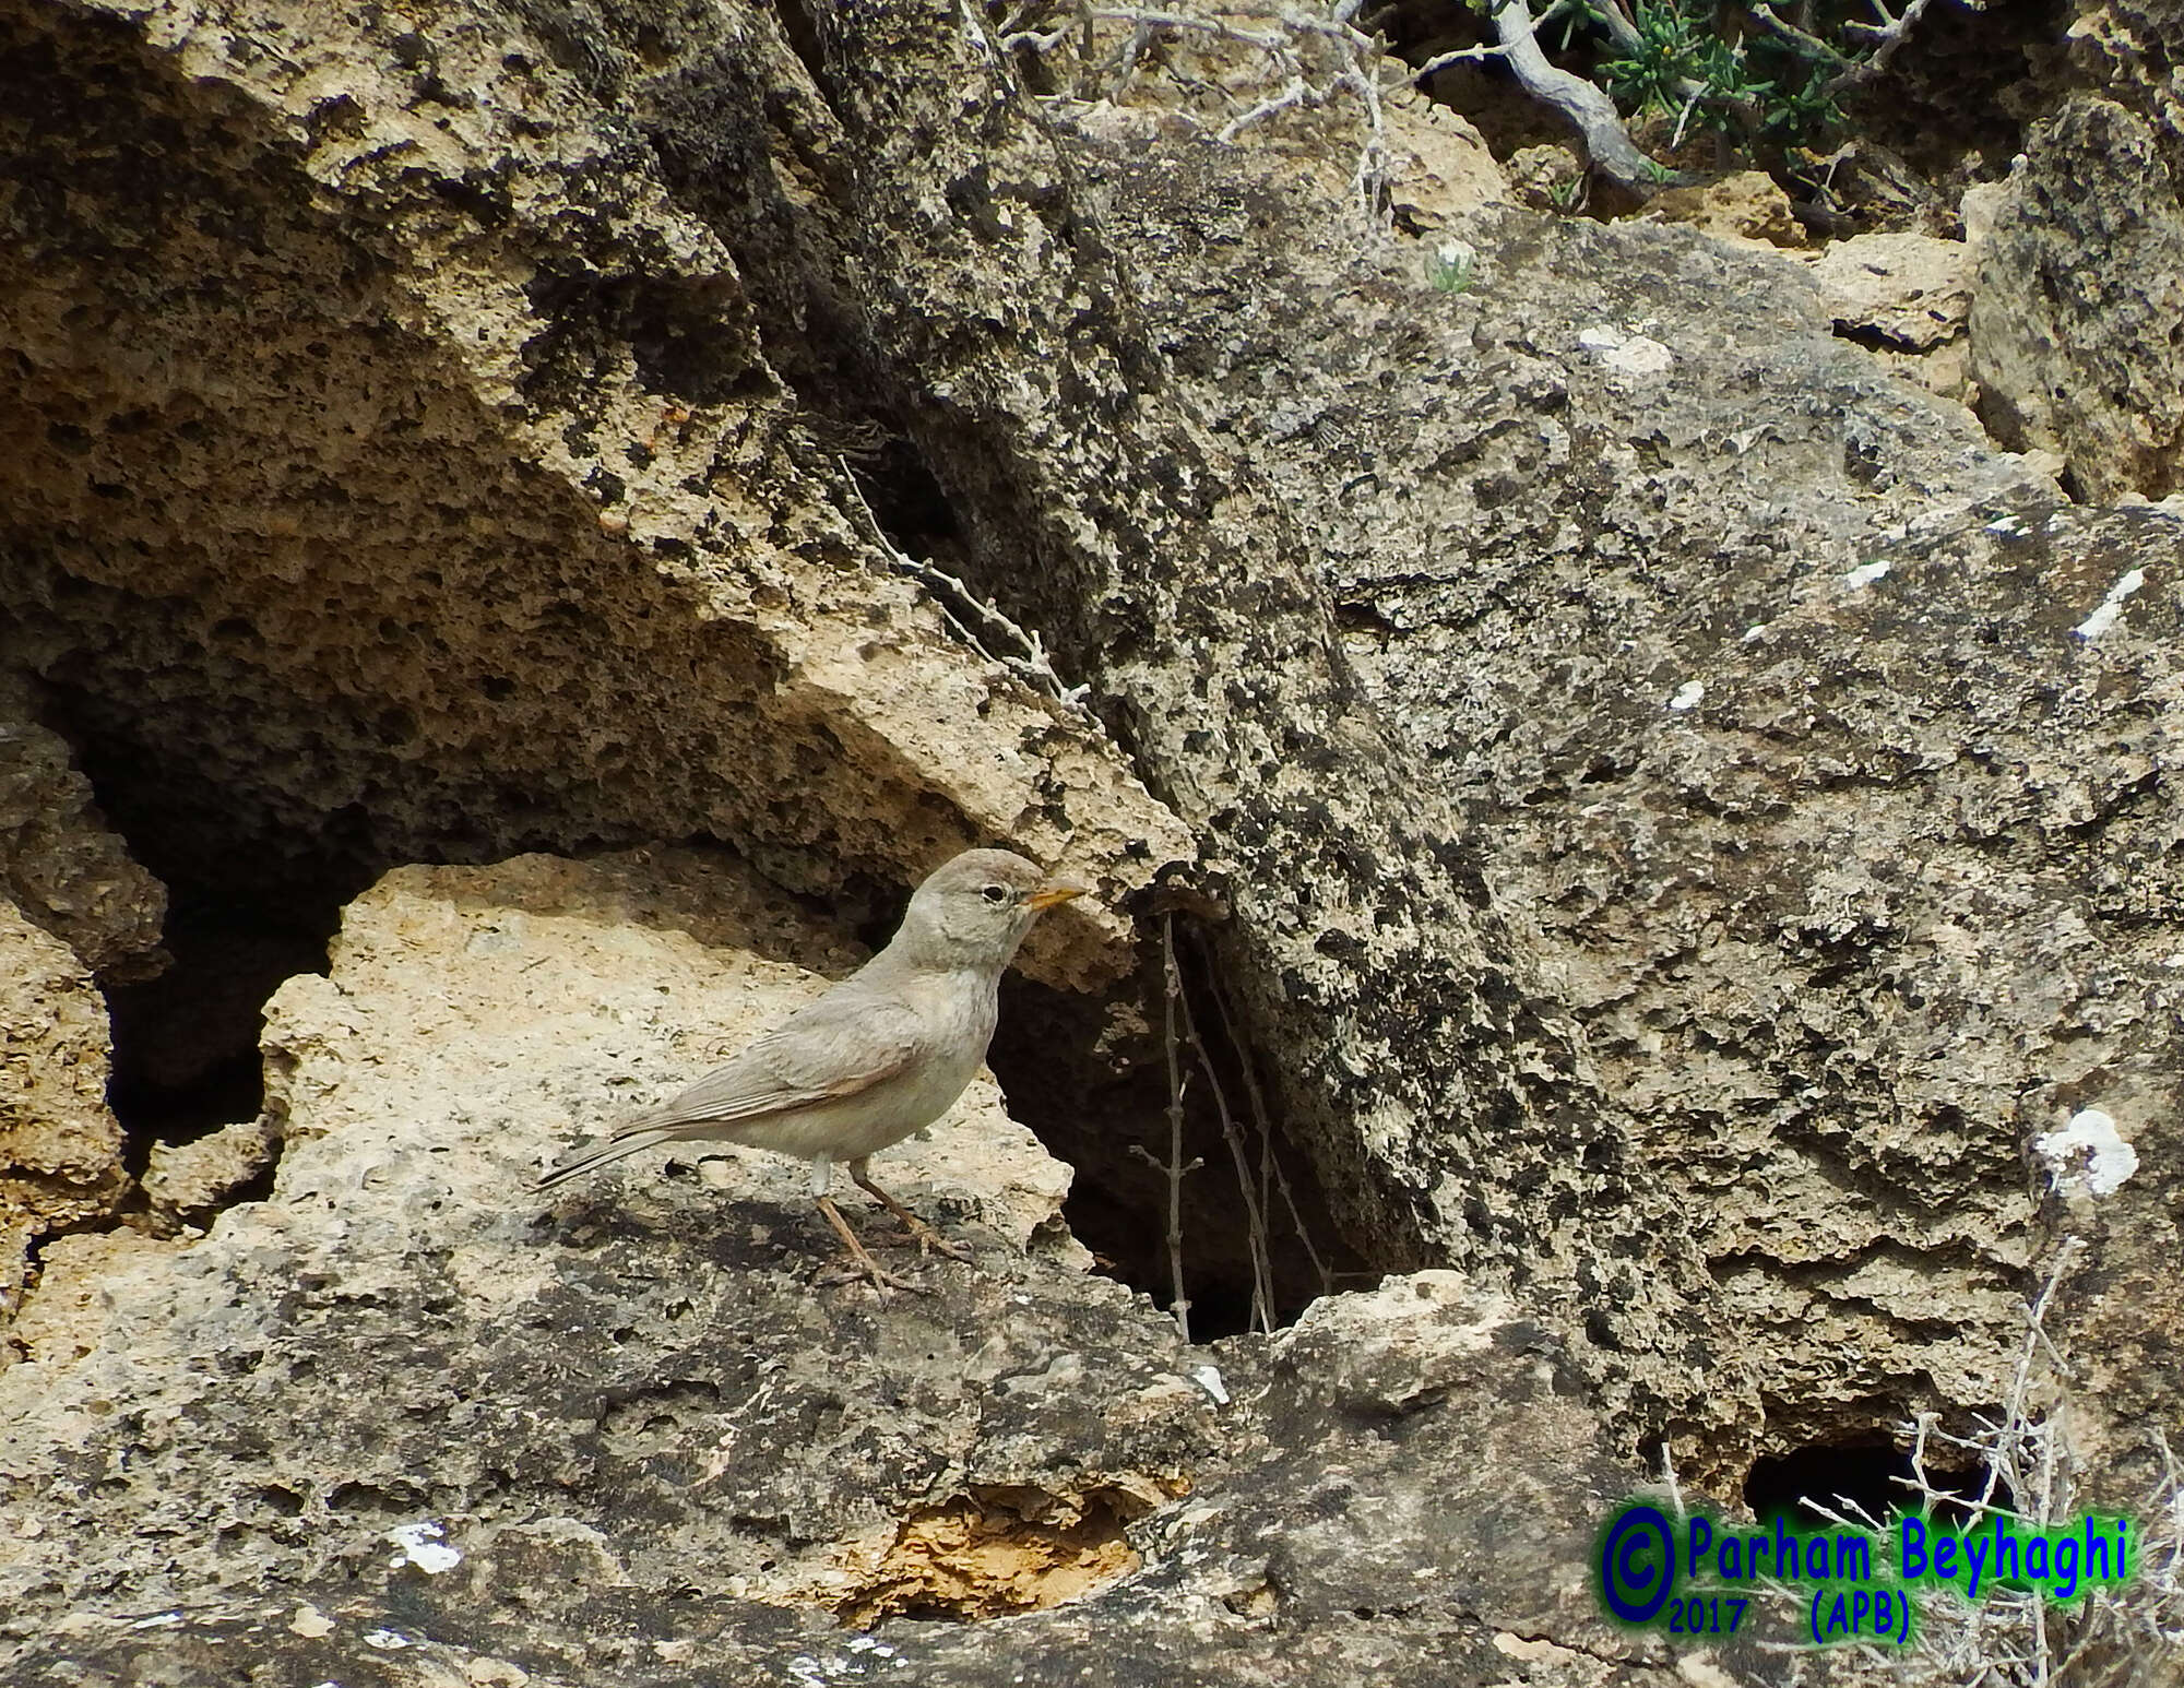
M 906 1002 L 836 985 L 614 1136 L 839 1103 L 909 1070 L 922 1042 L 924 1022 Z

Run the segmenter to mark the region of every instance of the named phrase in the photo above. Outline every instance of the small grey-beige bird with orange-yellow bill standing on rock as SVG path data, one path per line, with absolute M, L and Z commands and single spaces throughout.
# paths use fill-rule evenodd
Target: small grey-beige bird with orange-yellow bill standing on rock
M 834 1162 L 878 1199 L 919 1253 L 970 1253 L 871 1181 L 867 1164 L 946 1114 L 985 1061 L 1000 976 L 1033 922 L 1085 887 L 1051 878 L 1011 849 L 965 849 L 911 895 L 895 937 L 871 961 L 747 1044 L 727 1066 L 653 1107 L 594 1149 L 539 1175 L 550 1190 L 662 1142 L 732 1142 L 802 1155 L 812 1201 L 850 1256 L 847 1277 L 924 1288 L 895 1277 L 858 1243 L 830 1194 Z

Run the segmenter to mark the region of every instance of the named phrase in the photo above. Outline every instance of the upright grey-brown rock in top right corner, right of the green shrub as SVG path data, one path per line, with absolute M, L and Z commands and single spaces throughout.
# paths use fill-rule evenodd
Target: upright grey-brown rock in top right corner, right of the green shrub
M 2018 448 L 2060 452 L 2086 498 L 2184 487 L 2184 131 L 2171 0 L 2077 7 L 2092 87 L 2040 122 L 1981 249 L 1972 376 Z

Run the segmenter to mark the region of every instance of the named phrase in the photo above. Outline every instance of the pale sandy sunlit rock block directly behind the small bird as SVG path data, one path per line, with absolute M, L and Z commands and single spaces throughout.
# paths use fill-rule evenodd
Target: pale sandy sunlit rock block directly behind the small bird
M 397 869 L 345 911 L 332 970 L 290 978 L 266 1005 L 266 1114 L 290 1144 L 280 1184 L 295 1199 L 293 1144 L 325 1138 L 317 1160 L 358 1175 L 430 1153 L 450 1199 L 529 1199 L 529 1175 L 568 1144 L 705 1077 L 863 959 L 727 856 Z M 397 1101 L 413 1096 L 428 1101 Z M 511 1153 L 531 1166 L 513 1190 Z M 679 1144 L 553 1199 L 642 1201 L 670 1162 L 701 1168 L 723 1212 L 826 1236 L 804 1162 L 732 1144 Z M 935 1221 L 1085 1258 L 1059 1223 L 1068 1168 L 1002 1114 L 992 1077 L 878 1155 L 874 1177 Z

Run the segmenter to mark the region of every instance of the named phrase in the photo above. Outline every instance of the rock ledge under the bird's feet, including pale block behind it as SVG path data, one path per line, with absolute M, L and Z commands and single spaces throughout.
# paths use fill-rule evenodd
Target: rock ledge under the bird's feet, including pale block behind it
M 1188 1350 L 985 1083 L 874 1168 L 978 1256 L 933 1295 L 826 1286 L 764 1153 L 533 1192 L 852 961 L 719 854 L 354 904 L 269 1011 L 273 1194 L 63 1256 L 0 1371 L 7 1679 L 1671 1679 L 1583 1581 L 1634 1474 L 1507 1295 Z

